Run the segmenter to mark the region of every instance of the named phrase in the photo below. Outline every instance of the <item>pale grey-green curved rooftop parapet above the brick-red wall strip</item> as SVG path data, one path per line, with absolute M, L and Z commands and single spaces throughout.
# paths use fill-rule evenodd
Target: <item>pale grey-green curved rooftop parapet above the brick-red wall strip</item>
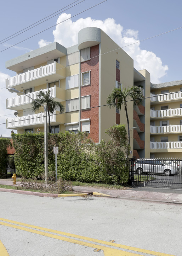
M 95 46 L 101 42 L 101 29 L 96 27 L 83 28 L 78 33 L 78 49 Z

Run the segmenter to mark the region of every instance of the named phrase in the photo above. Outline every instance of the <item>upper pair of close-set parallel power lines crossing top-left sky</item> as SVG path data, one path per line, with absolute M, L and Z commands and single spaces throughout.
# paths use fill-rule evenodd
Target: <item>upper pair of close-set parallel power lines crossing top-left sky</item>
M 78 2 L 78 1 L 79 1 L 79 0 L 76 0 L 75 2 Z M 83 1 L 85 1 L 85 0 L 82 0 L 81 2 L 83 2 Z M 74 4 L 75 2 L 73 2 L 72 4 Z M 78 4 L 80 4 L 81 2 L 79 2 L 79 3 L 77 3 L 77 4 L 73 5 L 73 6 L 71 6 L 71 7 L 69 7 L 69 8 L 67 8 L 67 9 L 65 9 L 65 10 L 63 10 L 62 12 L 69 10 L 70 8 L 72 8 L 72 7 L 74 7 L 74 6 L 78 5 Z M 70 4 L 70 5 L 72 5 L 72 4 Z M 62 9 L 66 8 L 66 7 L 70 6 L 70 5 L 67 5 L 67 6 L 63 7 Z M 60 9 L 60 10 L 58 10 L 58 11 L 61 11 L 62 9 Z M 57 12 L 58 12 L 58 11 L 57 11 Z M 58 14 L 61 14 L 62 12 L 59 12 Z M 56 12 L 54 12 L 53 14 L 55 14 L 55 13 L 56 13 Z M 51 15 L 53 15 L 53 14 L 51 14 Z M 51 18 L 57 16 L 58 14 L 56 14 L 56 15 L 54 15 L 54 16 L 52 16 L 52 17 L 50 17 L 51 15 L 47 16 L 47 17 L 50 17 L 50 18 L 48 18 L 47 20 L 50 20 Z M 3 39 L 3 40 L 0 41 L 0 42 L 1 42 L 0 44 L 3 44 L 3 43 L 5 43 L 5 42 L 9 41 L 10 39 L 12 39 L 12 38 L 14 38 L 14 37 L 17 37 L 17 36 L 19 36 L 20 34 L 22 34 L 22 33 L 26 32 L 26 31 L 28 31 L 28 30 L 30 30 L 30 29 L 32 29 L 32 28 L 34 28 L 34 27 L 40 25 L 41 23 L 43 23 L 43 22 L 45 22 L 45 21 L 47 21 L 47 20 L 45 20 L 47 17 L 45 17 L 45 18 L 42 19 L 42 20 L 44 20 L 44 21 L 39 20 L 39 21 L 33 23 L 32 25 L 30 25 L 30 26 L 24 28 L 24 29 L 23 29 L 24 31 L 23 31 L 23 30 L 20 30 L 20 31 L 16 32 L 15 34 L 12 34 L 11 36 L 6 37 L 5 39 Z M 40 22 L 40 21 L 42 21 L 42 22 Z M 38 23 L 38 22 L 40 22 L 40 23 Z M 36 24 L 36 23 L 38 23 L 38 24 Z M 35 25 L 35 24 L 36 24 L 36 25 Z M 33 26 L 33 25 L 34 25 L 34 26 Z M 28 28 L 28 29 L 27 29 L 27 28 Z M 19 32 L 21 32 L 21 33 L 19 33 Z M 19 34 L 18 34 L 18 33 L 19 33 Z M 11 38 L 10 38 L 10 37 L 11 37 Z M 8 39 L 8 38 L 9 38 L 9 39 Z M 7 40 L 6 40 L 6 39 L 7 39 Z M 5 40 L 6 40 L 6 41 L 5 41 Z M 2 42 L 2 41 L 4 41 L 4 42 Z

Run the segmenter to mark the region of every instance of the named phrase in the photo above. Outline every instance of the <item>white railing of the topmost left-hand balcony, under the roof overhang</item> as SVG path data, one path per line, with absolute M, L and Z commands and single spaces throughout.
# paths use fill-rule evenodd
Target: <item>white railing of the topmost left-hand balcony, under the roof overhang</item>
M 6 79 L 6 88 L 56 73 L 56 62 Z

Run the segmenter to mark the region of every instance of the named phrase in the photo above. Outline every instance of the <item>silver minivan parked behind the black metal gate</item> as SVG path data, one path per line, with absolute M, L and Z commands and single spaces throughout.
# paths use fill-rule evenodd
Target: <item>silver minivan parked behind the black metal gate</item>
M 135 161 L 133 171 L 137 174 L 143 174 L 143 172 L 151 172 L 152 174 L 164 174 L 166 176 L 174 175 L 177 173 L 177 167 L 170 165 L 169 163 L 150 158 L 141 158 Z

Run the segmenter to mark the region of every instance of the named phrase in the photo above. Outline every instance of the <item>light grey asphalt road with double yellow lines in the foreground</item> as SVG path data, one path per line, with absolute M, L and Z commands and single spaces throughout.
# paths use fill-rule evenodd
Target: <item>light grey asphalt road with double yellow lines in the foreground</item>
M 10 256 L 181 256 L 181 213 L 167 203 L 0 192 L 0 240 Z

